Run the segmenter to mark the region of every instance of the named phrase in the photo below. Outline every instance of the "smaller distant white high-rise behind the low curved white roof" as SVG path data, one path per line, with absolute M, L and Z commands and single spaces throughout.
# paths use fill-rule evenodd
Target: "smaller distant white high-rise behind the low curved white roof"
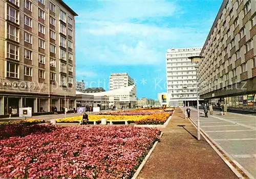
M 134 80 L 128 73 L 111 73 L 110 75 L 110 90 L 132 86 Z

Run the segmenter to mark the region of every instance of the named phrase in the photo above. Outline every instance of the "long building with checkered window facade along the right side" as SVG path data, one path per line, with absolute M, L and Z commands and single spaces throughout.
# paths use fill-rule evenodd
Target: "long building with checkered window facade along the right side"
M 200 96 L 256 109 L 256 2 L 224 0 L 202 48 Z

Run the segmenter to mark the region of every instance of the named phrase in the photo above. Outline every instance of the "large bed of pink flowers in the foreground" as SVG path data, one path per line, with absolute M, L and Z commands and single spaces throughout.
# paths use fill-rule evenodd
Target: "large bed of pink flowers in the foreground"
M 11 137 L 0 140 L 0 177 L 131 178 L 159 134 L 147 127 L 70 126 Z

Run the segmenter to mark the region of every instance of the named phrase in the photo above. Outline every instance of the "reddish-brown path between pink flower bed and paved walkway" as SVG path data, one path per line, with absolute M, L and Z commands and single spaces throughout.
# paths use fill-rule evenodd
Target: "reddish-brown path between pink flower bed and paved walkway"
M 183 125 L 178 126 L 178 125 Z M 177 109 L 138 178 L 238 178 Z

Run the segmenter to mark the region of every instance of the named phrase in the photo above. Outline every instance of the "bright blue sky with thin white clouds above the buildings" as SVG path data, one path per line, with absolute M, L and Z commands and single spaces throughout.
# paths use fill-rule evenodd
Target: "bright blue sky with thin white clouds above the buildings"
M 74 1 L 76 80 L 109 90 L 111 73 L 127 72 L 137 97 L 166 92 L 168 48 L 203 46 L 222 0 Z

